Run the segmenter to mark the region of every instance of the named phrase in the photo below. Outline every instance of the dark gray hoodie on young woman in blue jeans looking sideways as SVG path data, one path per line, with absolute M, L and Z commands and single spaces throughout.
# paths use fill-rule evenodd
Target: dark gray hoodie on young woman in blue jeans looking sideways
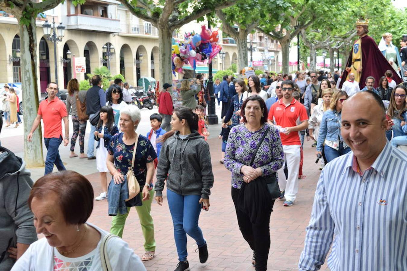
M 156 196 L 162 196 L 165 179 L 167 188 L 179 195 L 209 199 L 213 185 L 209 145 L 197 131 L 185 139 L 177 131 L 164 142 L 158 158 Z

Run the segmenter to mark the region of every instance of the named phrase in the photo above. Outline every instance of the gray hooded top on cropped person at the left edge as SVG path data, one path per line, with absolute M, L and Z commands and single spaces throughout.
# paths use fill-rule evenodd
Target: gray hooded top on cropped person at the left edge
M 7 249 L 17 243 L 37 241 L 28 196 L 33 187 L 31 173 L 13 152 L 0 147 L 0 270 L 10 270 L 15 262 Z

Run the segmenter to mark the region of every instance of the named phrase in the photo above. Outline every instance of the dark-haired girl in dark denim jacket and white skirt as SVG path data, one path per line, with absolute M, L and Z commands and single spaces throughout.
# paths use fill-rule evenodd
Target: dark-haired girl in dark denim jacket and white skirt
M 100 119 L 96 125 L 94 133 L 95 140 L 99 141 L 96 147 L 96 168 L 100 173 L 102 193 L 97 196 L 96 200 L 107 199 L 107 146 L 109 145 L 112 136 L 119 132 L 116 124 L 114 123 L 114 114 L 112 106 L 103 106 L 101 108 Z

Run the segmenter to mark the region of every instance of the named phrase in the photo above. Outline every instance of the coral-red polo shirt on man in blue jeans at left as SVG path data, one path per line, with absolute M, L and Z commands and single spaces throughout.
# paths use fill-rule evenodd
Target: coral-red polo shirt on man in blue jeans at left
M 38 115 L 42 116 L 44 121 L 44 138 L 59 138 L 62 136 L 63 117 L 67 117 L 66 105 L 55 97 L 54 100 L 48 102 L 48 99 L 42 101 L 38 107 Z

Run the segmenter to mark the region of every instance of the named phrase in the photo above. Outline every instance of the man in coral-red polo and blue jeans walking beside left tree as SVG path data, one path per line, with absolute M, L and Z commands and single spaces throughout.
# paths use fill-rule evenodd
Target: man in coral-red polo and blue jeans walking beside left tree
M 65 104 L 57 97 L 58 85 L 51 82 L 47 86 L 48 98 L 42 101 L 38 107 L 37 117 L 34 120 L 31 131 L 27 136 L 27 141 L 31 142 L 33 132 L 41 123 L 41 118 L 44 122 L 44 142 L 48 150 L 45 159 L 45 173 L 52 173 L 54 164 L 59 171 L 66 170 L 61 157 L 59 156 L 59 145 L 62 142 L 62 124 L 65 126 L 65 137 L 63 138 L 63 145 L 68 145 L 69 142 L 69 121 L 68 113 L 66 112 Z

